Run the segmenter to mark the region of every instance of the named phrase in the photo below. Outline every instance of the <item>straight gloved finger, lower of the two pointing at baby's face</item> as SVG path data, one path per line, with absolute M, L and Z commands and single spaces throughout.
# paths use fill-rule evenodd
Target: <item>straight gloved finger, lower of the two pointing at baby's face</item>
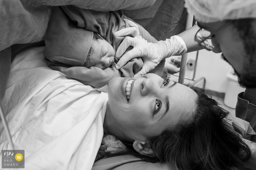
M 127 62 L 129 62 L 129 60 L 136 58 L 136 57 L 140 57 L 141 54 L 141 50 L 139 49 L 135 49 L 133 48 L 132 50 L 128 51 L 127 53 L 125 53 L 120 60 L 117 62 L 116 64 L 116 69 L 119 70 L 121 67 L 123 67 Z

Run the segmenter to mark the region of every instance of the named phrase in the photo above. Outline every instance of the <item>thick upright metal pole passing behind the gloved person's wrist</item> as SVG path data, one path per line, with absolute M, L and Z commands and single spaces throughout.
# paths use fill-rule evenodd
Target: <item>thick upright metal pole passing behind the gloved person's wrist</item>
M 192 24 L 193 24 L 193 15 L 188 13 L 186 30 L 191 28 Z M 180 84 L 184 83 L 184 78 L 185 78 L 185 74 L 186 74 L 186 66 L 187 66 L 187 58 L 188 58 L 188 54 L 182 55 L 181 65 L 180 65 L 180 76 L 179 76 L 179 80 L 178 80 L 178 83 L 180 83 Z

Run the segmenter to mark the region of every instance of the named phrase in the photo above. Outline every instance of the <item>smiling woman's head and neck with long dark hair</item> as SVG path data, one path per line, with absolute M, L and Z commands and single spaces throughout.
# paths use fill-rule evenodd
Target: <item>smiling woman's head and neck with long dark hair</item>
M 104 133 L 120 139 L 127 149 L 100 155 L 132 154 L 177 169 L 207 170 L 242 166 L 250 158 L 238 135 L 242 131 L 237 133 L 227 118 L 229 112 L 195 87 L 146 74 L 113 79 L 108 94 Z

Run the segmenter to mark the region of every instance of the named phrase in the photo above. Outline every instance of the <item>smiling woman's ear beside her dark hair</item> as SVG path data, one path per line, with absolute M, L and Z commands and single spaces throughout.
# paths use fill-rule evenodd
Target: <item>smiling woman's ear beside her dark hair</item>
M 149 157 L 155 157 L 155 153 L 150 148 L 148 143 L 135 141 L 133 142 L 132 146 L 139 154 L 147 155 Z

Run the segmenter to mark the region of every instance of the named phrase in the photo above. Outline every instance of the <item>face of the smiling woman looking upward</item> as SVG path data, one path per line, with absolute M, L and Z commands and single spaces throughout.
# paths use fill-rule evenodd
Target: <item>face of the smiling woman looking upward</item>
M 126 88 L 129 80 L 130 99 Z M 109 101 L 104 120 L 107 134 L 143 141 L 168 126 L 187 120 L 195 110 L 197 94 L 189 87 L 163 80 L 156 74 L 114 78 L 108 85 Z

